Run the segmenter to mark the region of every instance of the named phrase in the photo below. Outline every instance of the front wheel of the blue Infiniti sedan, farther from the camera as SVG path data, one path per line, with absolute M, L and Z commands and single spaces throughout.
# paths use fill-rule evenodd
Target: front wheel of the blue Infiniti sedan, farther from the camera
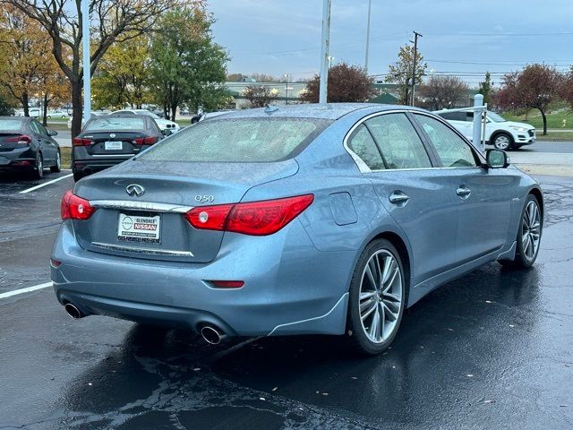
M 503 266 L 528 269 L 534 265 L 539 254 L 543 219 L 539 202 L 533 194 L 527 196 L 526 205 L 521 212 L 519 228 L 517 229 L 517 250 L 513 260 L 500 260 Z

